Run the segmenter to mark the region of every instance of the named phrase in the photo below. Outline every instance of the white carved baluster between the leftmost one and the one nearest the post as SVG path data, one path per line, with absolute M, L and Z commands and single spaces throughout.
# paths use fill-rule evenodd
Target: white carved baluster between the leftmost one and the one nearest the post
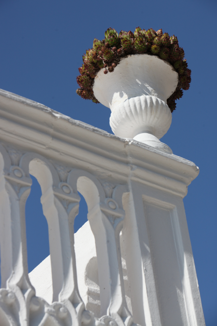
M 54 165 L 40 155 L 27 155 L 23 158 L 23 164 L 26 165 L 27 162 L 30 162 L 30 172 L 42 188 L 41 203 L 49 231 L 53 302 L 59 301 L 67 307 L 70 316 L 65 309 L 59 313 L 61 318 L 79 325 L 85 306 L 77 285 L 73 225 L 78 214 L 80 196 L 65 182 L 65 176 L 61 177 L 63 171 L 60 173 L 60 170 L 56 170 Z

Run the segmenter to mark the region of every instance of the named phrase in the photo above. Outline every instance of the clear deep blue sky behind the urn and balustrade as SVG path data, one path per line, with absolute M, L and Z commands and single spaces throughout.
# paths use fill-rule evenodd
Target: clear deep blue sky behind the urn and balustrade
M 81 99 L 82 55 L 108 27 L 163 29 L 184 48 L 192 83 L 162 141 L 200 174 L 184 199 L 207 326 L 217 325 L 217 2 L 212 0 L 0 0 L 0 88 L 111 133 L 109 109 Z M 86 221 L 82 201 L 76 230 Z M 29 271 L 48 254 L 40 188 L 26 205 Z

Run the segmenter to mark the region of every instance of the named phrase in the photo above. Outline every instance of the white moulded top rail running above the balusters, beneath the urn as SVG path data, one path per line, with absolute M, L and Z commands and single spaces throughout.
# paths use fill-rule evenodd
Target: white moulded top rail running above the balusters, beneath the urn
M 0 141 L 14 143 L 74 167 L 85 167 L 111 181 L 132 180 L 164 188 L 184 197 L 199 173 L 183 158 L 166 154 L 140 142 L 119 138 L 74 120 L 22 96 L 0 90 Z M 88 167 L 87 167 L 88 166 Z

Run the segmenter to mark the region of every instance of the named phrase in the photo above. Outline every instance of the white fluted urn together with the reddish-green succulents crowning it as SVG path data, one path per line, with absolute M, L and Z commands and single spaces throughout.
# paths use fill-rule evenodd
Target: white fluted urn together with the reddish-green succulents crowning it
M 77 93 L 111 110 L 116 136 L 172 153 L 162 138 L 170 128 L 175 100 L 191 82 L 177 38 L 137 27 L 134 34 L 109 28 L 83 57 Z M 112 73 L 111 73 L 112 72 Z

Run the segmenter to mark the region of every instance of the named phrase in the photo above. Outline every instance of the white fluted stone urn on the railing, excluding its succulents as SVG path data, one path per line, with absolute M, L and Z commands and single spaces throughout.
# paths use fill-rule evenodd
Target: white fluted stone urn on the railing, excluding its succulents
M 178 84 L 178 73 L 167 61 L 149 54 L 129 55 L 114 71 L 95 77 L 93 93 L 111 110 L 110 126 L 116 136 L 132 138 L 173 153 L 162 138 L 170 128 L 167 105 Z

